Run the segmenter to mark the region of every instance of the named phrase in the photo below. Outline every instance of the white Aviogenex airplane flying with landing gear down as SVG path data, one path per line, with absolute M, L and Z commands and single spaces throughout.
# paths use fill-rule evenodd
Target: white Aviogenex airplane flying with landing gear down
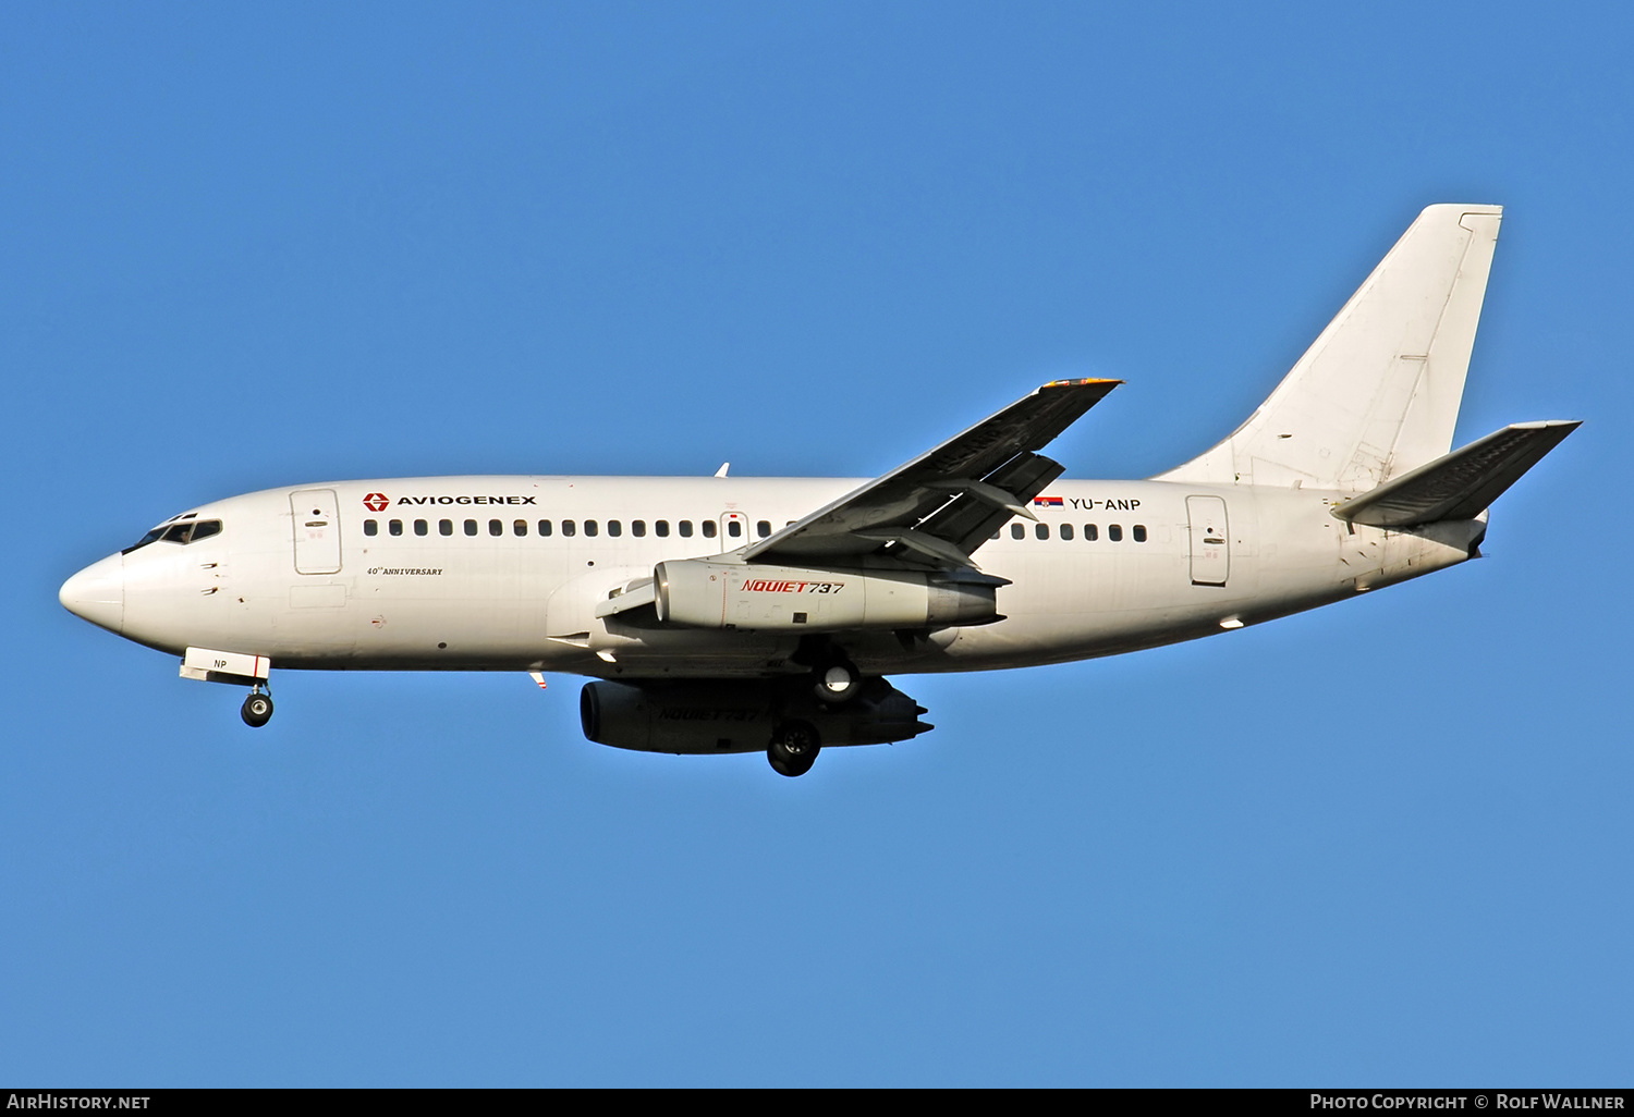
M 1480 557 L 1489 506 L 1578 421 L 1453 451 L 1502 207 L 1425 209 L 1275 392 L 1147 480 L 1041 451 L 1121 380 L 1056 380 L 866 478 L 412 477 L 230 496 L 62 604 L 248 686 L 330 671 L 588 676 L 588 740 L 676 754 L 933 728 L 887 674 L 1118 655 Z M 980 562 L 977 562 L 980 560 Z

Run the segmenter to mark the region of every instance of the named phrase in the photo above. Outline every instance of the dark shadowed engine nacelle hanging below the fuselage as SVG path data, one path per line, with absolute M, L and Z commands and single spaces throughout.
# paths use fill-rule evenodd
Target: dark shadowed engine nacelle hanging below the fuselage
M 806 678 L 690 683 L 585 683 L 578 719 L 598 745 L 642 753 L 758 753 L 783 722 L 830 745 L 886 745 L 933 728 L 925 709 L 881 678 L 843 705 L 819 702 Z

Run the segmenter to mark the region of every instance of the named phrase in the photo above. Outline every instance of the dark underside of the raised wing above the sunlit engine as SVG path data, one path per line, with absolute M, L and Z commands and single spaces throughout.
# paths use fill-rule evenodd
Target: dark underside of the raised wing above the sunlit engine
M 768 539 L 748 562 L 830 563 L 877 555 L 904 567 L 974 567 L 971 552 L 1060 477 L 1038 451 L 1123 380 L 1056 380 Z

